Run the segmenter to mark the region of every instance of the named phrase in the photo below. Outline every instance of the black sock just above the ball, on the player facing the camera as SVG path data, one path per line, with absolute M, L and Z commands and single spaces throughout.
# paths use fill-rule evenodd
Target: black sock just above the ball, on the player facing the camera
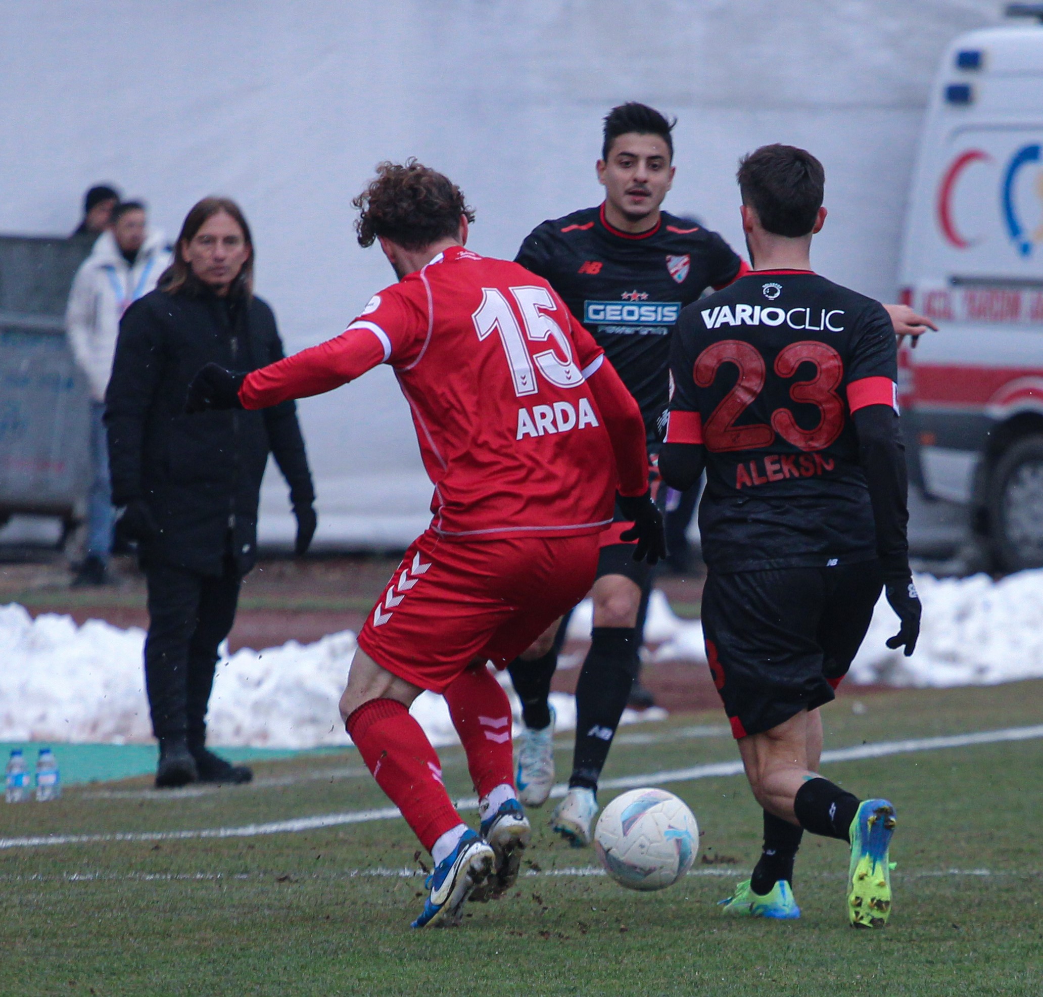
M 598 787 L 637 674 L 633 627 L 595 627 L 576 686 L 576 751 L 569 786 Z

